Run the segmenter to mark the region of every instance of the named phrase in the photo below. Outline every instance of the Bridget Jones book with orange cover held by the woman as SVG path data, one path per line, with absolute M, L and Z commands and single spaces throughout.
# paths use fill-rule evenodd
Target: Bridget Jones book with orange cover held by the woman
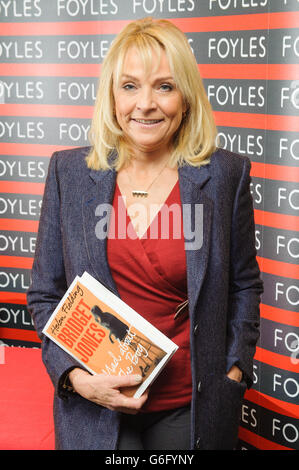
M 43 333 L 91 374 L 142 376 L 139 398 L 178 346 L 88 272 L 76 276 Z

